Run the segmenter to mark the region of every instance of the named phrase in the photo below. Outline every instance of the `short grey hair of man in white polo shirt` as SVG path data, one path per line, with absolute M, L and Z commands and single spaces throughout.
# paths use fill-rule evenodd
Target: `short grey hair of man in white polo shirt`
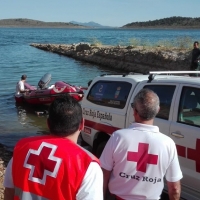
M 153 119 L 158 111 L 160 100 L 158 95 L 150 89 L 142 89 L 135 96 L 132 107 L 136 109 L 140 118 L 144 120 Z

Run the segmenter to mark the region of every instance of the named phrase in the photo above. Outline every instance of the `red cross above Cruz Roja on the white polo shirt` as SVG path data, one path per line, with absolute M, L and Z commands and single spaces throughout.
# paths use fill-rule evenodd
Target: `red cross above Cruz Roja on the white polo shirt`
M 137 162 L 137 171 L 146 172 L 147 164 L 157 165 L 158 155 L 148 154 L 149 144 L 139 143 L 138 152 L 127 153 L 127 160 Z

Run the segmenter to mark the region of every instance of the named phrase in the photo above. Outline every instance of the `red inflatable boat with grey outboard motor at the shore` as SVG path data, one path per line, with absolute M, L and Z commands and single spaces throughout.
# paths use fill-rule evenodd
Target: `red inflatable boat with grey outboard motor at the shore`
M 47 87 L 51 81 L 51 74 L 45 74 L 38 82 L 38 86 L 31 86 L 25 83 L 25 89 L 29 89 L 23 96 L 16 96 L 17 103 L 28 103 L 33 105 L 48 105 L 51 104 L 55 98 L 61 97 L 65 94 L 71 95 L 77 101 L 81 101 L 84 92 L 87 88 L 70 85 L 64 81 L 57 81 L 55 84 Z

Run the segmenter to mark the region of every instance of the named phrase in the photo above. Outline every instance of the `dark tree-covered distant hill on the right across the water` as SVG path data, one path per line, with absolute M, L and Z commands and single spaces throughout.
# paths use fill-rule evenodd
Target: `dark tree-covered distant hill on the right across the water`
M 146 22 L 132 22 L 122 28 L 200 28 L 200 17 L 169 17 Z

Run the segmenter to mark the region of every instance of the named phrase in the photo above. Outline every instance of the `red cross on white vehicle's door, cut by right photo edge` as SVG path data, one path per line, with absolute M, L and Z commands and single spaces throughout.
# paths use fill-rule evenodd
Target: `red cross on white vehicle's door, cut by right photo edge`
M 196 141 L 196 149 L 187 148 L 188 159 L 196 161 L 196 172 L 200 173 L 200 139 Z

